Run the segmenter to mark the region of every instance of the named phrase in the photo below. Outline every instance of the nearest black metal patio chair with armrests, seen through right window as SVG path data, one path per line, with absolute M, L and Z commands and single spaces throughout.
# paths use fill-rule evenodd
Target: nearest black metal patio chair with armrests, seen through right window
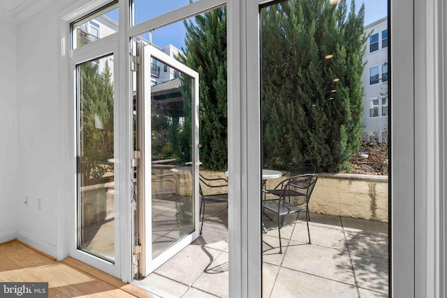
M 278 199 L 263 200 L 263 209 L 268 209 L 277 214 L 278 234 L 279 234 L 279 253 L 282 253 L 281 245 L 281 227 L 284 225 L 284 216 L 288 214 L 306 212 L 307 235 L 310 240 L 309 232 L 309 200 L 314 191 L 317 174 L 301 174 L 281 181 L 277 187 L 270 190 L 269 193 L 277 195 Z

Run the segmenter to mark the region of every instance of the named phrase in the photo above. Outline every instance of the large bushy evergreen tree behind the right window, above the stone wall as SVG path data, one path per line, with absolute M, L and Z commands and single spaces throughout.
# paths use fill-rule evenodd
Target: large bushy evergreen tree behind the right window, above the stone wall
M 285 1 L 262 10 L 265 166 L 349 170 L 362 131 L 364 11 L 356 14 L 353 1 L 347 13 L 346 0 Z

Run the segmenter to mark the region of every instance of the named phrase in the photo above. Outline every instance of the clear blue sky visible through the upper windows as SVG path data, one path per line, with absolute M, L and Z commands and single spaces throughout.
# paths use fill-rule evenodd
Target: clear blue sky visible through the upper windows
M 206 0 L 202 0 L 206 1 Z M 376 20 L 386 17 L 388 15 L 388 1 L 387 0 L 354 0 L 356 1 L 356 10 L 360 8 L 362 3 L 365 3 L 365 25 L 371 24 Z M 347 0 L 350 4 L 351 0 Z M 135 24 L 149 20 L 157 15 L 162 15 L 170 10 L 180 8 L 189 4 L 189 0 L 134 0 L 134 10 L 135 10 Z M 350 6 L 349 6 L 350 7 Z M 116 12 L 111 12 L 107 14 L 113 20 L 118 19 L 118 14 Z M 172 44 L 175 47 L 181 49 L 184 47 L 184 36 L 186 30 L 184 28 L 183 22 L 177 22 L 175 24 L 170 24 L 166 27 L 156 29 L 152 33 L 152 41 L 159 46 Z M 145 38 L 147 37 L 144 36 Z

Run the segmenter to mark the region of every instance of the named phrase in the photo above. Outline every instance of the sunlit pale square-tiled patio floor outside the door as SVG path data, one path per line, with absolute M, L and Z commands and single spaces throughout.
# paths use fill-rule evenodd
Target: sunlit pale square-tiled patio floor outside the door
M 207 205 L 203 235 L 145 280 L 163 297 L 228 297 L 224 204 Z M 263 297 L 388 297 L 388 224 L 311 214 L 286 216 L 279 254 L 276 221 L 264 218 Z

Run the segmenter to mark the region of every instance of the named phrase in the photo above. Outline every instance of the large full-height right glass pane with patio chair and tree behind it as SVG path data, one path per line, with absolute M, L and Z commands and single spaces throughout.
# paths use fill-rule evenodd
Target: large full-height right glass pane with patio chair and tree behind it
M 387 20 L 365 23 L 358 1 L 273 3 L 259 49 L 263 297 L 388 297 L 386 53 L 368 47 Z

